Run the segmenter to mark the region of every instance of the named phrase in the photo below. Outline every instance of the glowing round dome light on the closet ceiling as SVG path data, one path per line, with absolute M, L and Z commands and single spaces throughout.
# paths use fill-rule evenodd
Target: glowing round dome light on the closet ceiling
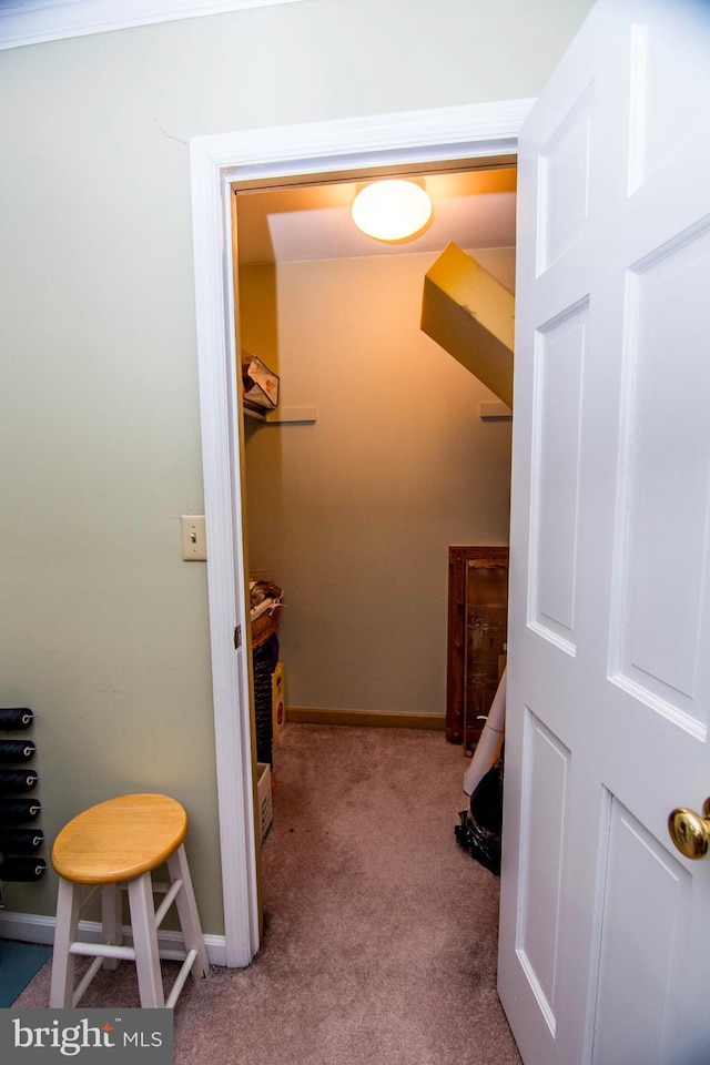
M 365 185 L 353 203 L 353 222 L 376 241 L 403 241 L 432 217 L 432 201 L 414 181 L 387 179 Z

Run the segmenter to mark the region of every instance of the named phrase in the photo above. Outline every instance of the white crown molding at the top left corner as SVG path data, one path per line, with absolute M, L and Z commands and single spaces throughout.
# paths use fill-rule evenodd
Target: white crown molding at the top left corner
M 0 49 L 174 22 L 304 0 L 9 0 L 0 8 Z

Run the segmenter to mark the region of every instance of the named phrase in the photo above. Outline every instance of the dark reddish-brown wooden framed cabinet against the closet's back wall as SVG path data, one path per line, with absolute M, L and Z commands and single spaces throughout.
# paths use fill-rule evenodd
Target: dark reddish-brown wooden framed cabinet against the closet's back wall
M 446 738 L 471 753 L 505 666 L 508 548 L 450 547 Z

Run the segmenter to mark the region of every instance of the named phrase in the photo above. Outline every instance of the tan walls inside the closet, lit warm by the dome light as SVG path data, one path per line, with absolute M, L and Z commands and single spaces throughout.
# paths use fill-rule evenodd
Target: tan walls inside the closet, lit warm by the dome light
M 274 339 L 275 285 L 281 405 L 317 410 L 246 419 L 252 572 L 285 591 L 292 706 L 443 714 L 448 546 L 508 541 L 510 423 L 480 420 L 496 397 L 419 328 L 435 257 L 243 272 L 246 346 Z

